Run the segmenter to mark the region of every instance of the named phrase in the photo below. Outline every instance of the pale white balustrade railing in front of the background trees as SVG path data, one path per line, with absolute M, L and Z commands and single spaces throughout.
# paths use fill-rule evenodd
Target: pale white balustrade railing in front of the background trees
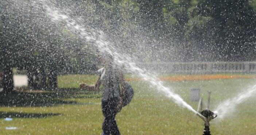
M 142 65 L 148 70 L 165 74 L 256 73 L 256 61 L 150 62 Z

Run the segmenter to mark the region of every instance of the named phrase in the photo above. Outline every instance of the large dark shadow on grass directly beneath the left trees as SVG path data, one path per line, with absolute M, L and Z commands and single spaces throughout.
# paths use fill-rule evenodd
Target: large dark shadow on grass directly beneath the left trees
M 23 90 L 11 94 L 0 93 L 0 107 L 50 107 L 62 104 L 81 104 L 69 98 L 100 98 L 95 92 L 77 88 L 60 88 L 52 91 Z

